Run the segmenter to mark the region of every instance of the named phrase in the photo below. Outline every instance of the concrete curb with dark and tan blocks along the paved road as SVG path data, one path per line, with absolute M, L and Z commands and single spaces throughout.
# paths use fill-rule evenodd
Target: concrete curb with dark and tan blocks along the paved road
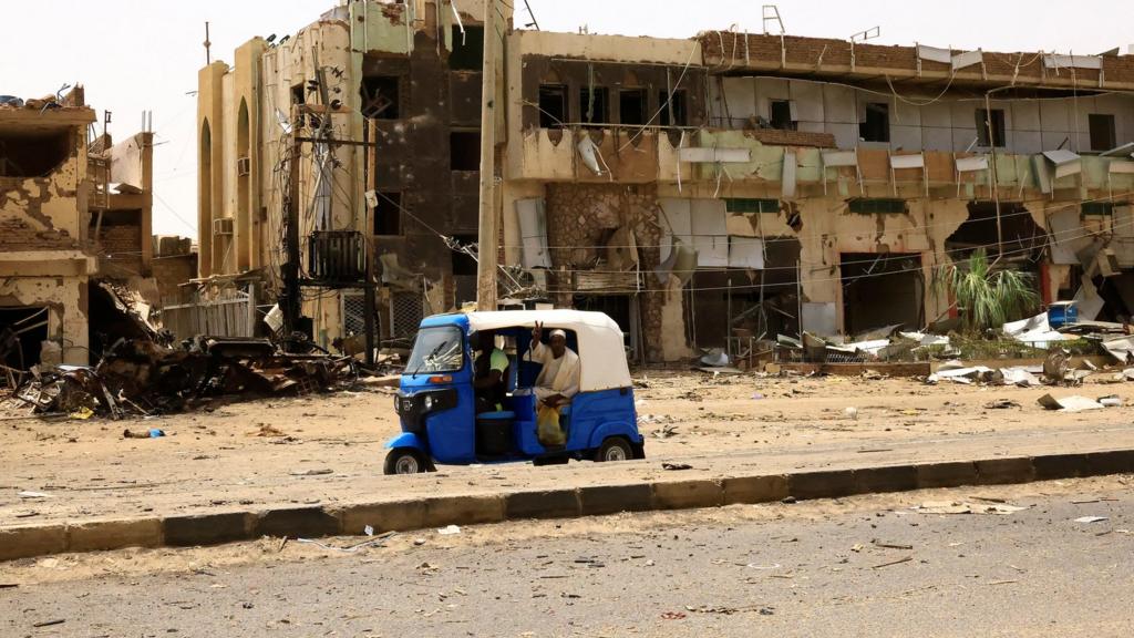
M 286 506 L 69 524 L 0 528 L 0 561 L 124 547 L 215 545 L 261 536 L 319 537 L 448 524 L 838 498 L 911 489 L 1004 485 L 1134 472 L 1134 450 L 877 465 L 790 475 L 654 480 L 552 490 L 435 496 L 335 506 Z

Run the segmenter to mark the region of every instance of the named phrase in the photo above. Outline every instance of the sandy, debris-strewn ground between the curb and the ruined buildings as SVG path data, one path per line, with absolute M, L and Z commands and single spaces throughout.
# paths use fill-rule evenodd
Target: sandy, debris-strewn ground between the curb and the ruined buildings
M 636 375 L 635 397 L 651 462 L 812 451 L 822 461 L 823 454 L 853 455 L 903 445 L 921 451 L 941 440 L 972 439 L 979 445 L 982 437 L 1013 433 L 1111 428 L 1115 434 L 1106 436 L 1115 446 L 1134 444 L 1128 429 L 1134 384 L 1101 383 L 1109 377 L 1098 375 L 1080 388 L 1053 389 L 645 371 Z M 1048 392 L 1116 394 L 1127 405 L 1051 412 L 1036 403 Z M 383 496 L 406 486 L 490 490 L 523 486 L 551 470 L 601 473 L 608 479 L 620 472 L 627 480 L 645 476 L 641 468 L 632 471 L 635 463 L 626 463 L 625 470 L 572 463 L 538 469 L 530 464 L 442 468 L 416 482 L 417 477 L 381 477 L 383 444 L 398 431 L 390 393 L 367 389 L 235 403 L 212 412 L 135 421 L 5 417 L 0 526 L 202 507 L 328 504 Z M 1018 408 L 985 408 L 999 400 L 1013 400 Z M 161 428 L 167 436 L 124 438 L 126 428 Z M 20 496 L 28 490 L 48 496 Z

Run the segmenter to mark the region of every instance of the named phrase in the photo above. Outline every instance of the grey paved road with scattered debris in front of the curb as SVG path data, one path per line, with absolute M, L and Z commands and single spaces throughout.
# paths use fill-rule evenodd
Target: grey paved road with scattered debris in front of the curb
M 0 635 L 1131 636 L 1129 482 L 503 523 L 356 554 L 293 543 L 289 559 L 0 589 Z M 974 494 L 1027 509 L 909 509 Z M 35 569 L 7 568 L 0 582 Z

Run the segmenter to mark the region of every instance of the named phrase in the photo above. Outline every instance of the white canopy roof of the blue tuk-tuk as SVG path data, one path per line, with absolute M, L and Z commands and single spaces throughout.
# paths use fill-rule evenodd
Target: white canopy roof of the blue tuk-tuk
M 469 330 L 534 328 L 543 324 L 543 334 L 555 328 L 570 330 L 578 337 L 579 391 L 595 392 L 629 387 L 631 371 L 626 363 L 623 329 L 602 312 L 581 310 L 501 310 L 468 312 Z

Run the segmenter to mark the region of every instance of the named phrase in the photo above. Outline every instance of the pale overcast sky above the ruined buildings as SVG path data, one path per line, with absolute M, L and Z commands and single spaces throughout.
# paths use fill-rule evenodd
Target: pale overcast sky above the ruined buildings
M 516 25 L 530 20 L 523 0 Z M 3 2 L 0 94 L 23 98 L 81 83 L 110 133 L 124 140 L 153 111 L 155 234 L 196 234 L 196 91 L 204 66 L 204 23 L 213 59 L 231 61 L 240 43 L 294 33 L 337 0 L 37 0 Z M 699 31 L 763 31 L 752 0 L 528 0 L 544 31 L 689 37 Z M 459 7 L 459 1 L 458 1 Z M 820 1 L 778 3 L 787 33 L 847 39 L 880 27 L 878 44 L 989 51 L 1099 53 L 1134 44 L 1134 1 L 1034 0 Z

